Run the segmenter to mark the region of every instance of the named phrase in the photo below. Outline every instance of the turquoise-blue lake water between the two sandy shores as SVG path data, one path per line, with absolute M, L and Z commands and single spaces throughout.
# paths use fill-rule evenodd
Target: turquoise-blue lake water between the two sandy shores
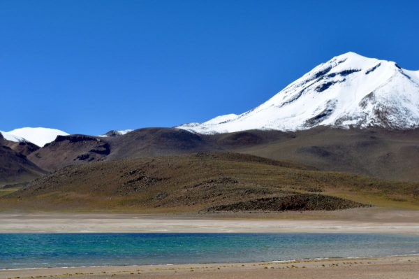
M 419 254 L 388 234 L 0 234 L 0 269 Z

